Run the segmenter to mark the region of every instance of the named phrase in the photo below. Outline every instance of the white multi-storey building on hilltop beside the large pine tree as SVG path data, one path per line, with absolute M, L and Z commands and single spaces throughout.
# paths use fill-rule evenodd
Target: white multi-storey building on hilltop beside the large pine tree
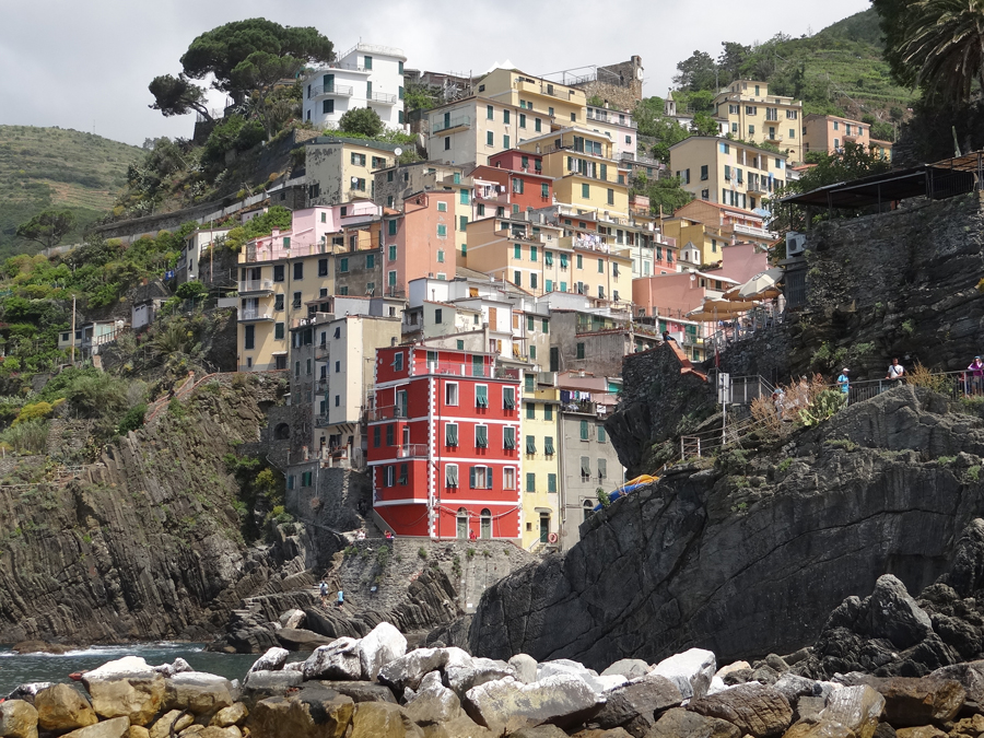
M 356 44 L 326 67 L 307 72 L 304 119 L 336 127 L 347 110 L 368 107 L 391 130 L 403 130 L 403 51 Z

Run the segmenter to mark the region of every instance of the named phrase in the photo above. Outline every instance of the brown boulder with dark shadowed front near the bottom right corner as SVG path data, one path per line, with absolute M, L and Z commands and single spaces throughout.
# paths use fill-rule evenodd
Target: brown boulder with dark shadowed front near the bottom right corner
M 872 680 L 871 687 L 885 698 L 885 719 L 895 728 L 951 721 L 967 699 L 953 679 L 895 677 Z

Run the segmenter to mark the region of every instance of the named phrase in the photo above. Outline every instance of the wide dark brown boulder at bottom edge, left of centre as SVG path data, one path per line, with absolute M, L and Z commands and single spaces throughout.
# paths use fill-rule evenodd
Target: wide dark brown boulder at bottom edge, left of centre
M 290 699 L 257 702 L 248 726 L 258 738 L 342 738 L 354 712 L 350 698 L 311 684 Z

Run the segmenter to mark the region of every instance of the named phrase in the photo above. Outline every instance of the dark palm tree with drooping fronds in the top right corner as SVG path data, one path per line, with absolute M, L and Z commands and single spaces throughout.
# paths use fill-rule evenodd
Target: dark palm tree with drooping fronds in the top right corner
M 885 56 L 902 84 L 929 97 L 967 102 L 984 87 L 984 0 L 874 0 Z

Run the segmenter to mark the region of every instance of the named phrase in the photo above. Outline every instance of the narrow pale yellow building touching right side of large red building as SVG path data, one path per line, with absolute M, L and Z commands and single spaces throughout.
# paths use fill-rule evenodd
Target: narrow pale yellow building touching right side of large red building
M 523 548 L 539 550 L 560 530 L 560 390 L 526 373 L 523 391 Z

